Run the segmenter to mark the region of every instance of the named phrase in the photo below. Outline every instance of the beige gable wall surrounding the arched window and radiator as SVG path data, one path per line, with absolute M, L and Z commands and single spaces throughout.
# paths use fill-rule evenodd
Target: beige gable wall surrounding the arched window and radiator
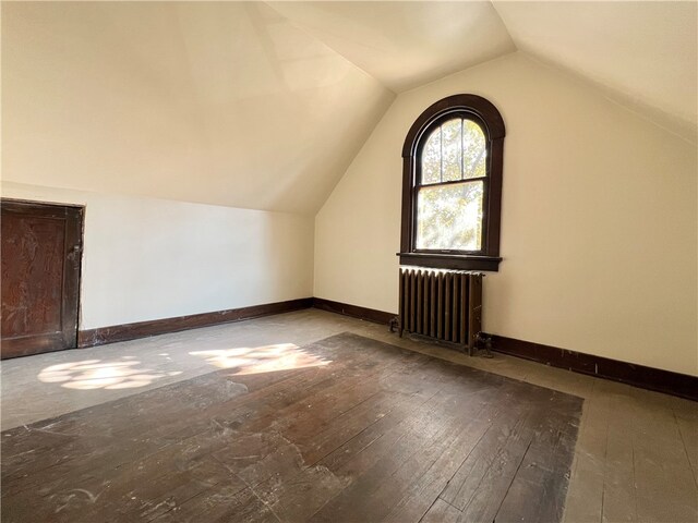
M 507 125 L 485 330 L 698 375 L 695 145 L 522 53 L 396 99 L 315 218 L 314 294 L 397 309 L 400 149 L 456 93 Z

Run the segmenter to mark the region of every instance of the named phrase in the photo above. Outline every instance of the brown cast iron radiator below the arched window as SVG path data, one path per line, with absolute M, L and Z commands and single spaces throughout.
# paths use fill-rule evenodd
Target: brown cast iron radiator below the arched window
M 482 330 L 482 273 L 400 267 L 398 330 L 461 345 Z

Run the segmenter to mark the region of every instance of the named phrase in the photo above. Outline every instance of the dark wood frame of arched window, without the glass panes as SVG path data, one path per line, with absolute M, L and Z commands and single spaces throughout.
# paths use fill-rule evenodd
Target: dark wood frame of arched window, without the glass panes
M 464 118 L 482 129 L 486 147 L 486 177 L 483 184 L 482 239 L 480 251 L 418 250 L 417 197 L 421 184 L 421 153 L 431 132 L 442 123 Z M 444 269 L 497 271 L 500 262 L 500 227 L 502 209 L 502 167 L 506 130 L 500 111 L 477 95 L 453 95 L 432 104 L 414 121 L 402 147 L 402 227 L 400 233 L 401 265 Z M 473 179 L 481 180 L 481 179 Z M 459 182 L 467 182 L 468 179 Z M 450 182 L 457 183 L 457 182 Z

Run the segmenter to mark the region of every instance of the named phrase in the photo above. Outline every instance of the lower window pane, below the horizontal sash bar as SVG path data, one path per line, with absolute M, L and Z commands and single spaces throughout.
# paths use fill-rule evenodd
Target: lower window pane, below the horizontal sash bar
M 425 186 L 417 196 L 417 248 L 482 248 L 483 182 Z

